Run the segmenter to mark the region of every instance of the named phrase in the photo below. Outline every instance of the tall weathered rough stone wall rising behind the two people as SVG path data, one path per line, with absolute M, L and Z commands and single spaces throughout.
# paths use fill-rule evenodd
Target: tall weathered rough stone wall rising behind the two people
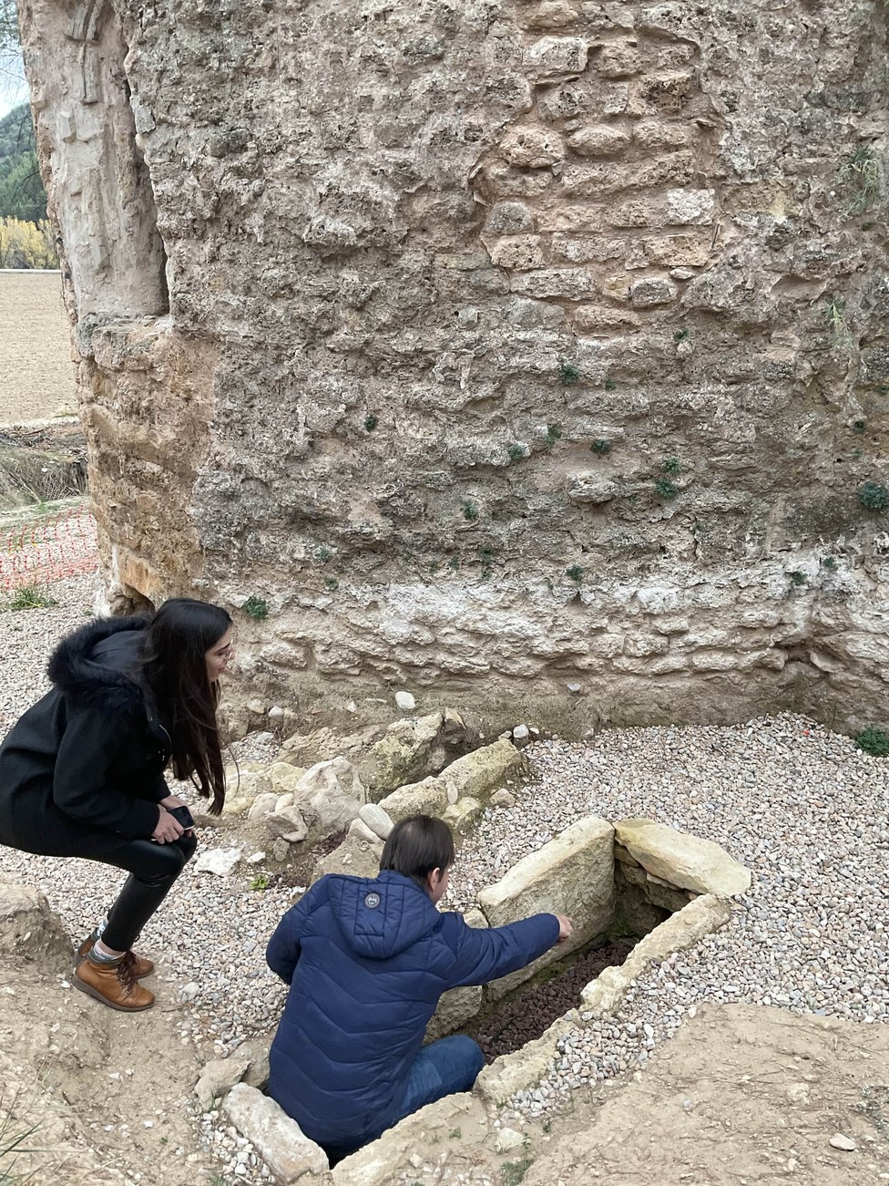
M 113 604 L 264 600 L 303 704 L 885 718 L 883 4 L 20 4 Z

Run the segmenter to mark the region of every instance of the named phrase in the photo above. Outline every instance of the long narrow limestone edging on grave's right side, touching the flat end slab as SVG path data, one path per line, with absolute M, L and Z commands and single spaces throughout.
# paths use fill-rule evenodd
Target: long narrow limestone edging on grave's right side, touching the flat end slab
M 623 1000 L 631 981 L 641 976 L 648 964 L 665 959 L 673 951 L 685 951 L 705 935 L 718 931 L 731 917 L 728 904 L 712 894 L 702 894 L 660 926 L 646 935 L 616 968 L 606 968 L 581 991 L 584 1008 L 596 1016 L 613 1013 Z

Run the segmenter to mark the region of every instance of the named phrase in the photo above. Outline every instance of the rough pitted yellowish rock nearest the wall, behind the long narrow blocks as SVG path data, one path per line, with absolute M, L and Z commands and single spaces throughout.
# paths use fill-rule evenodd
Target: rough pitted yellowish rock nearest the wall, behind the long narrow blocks
M 463 719 L 449 708 L 395 721 L 359 766 L 370 798 L 380 799 L 405 783 L 437 774 L 472 744 Z

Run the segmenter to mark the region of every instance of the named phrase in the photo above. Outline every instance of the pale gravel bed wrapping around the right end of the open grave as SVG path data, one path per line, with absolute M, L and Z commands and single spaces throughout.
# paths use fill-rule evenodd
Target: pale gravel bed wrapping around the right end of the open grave
M 889 760 L 791 714 L 610 729 L 529 755 L 536 780 L 461 847 L 453 906 L 586 815 L 648 816 L 714 840 L 753 885 L 722 931 L 650 969 L 615 1018 L 567 1033 L 555 1071 L 513 1099 L 526 1115 L 640 1066 L 705 1001 L 889 1021 Z

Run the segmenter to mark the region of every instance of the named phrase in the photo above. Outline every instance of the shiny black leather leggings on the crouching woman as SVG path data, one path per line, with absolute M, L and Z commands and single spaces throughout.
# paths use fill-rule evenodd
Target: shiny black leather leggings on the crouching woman
M 127 869 L 129 876 L 108 911 L 102 942 L 115 951 L 133 946 L 139 932 L 164 901 L 171 886 L 194 855 L 198 842 L 180 836 L 167 844 L 152 840 L 121 840 L 111 833 L 92 833 L 78 837 L 77 852 L 102 865 Z

